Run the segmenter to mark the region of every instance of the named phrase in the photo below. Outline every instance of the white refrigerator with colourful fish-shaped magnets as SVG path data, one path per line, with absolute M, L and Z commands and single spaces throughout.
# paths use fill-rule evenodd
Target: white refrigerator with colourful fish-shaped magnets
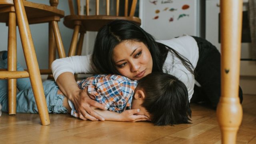
M 201 36 L 200 0 L 140 0 L 141 27 L 156 40 Z

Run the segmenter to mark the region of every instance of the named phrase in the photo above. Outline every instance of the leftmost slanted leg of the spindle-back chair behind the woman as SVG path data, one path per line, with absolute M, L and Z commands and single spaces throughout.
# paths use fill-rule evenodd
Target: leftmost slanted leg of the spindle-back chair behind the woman
M 74 28 L 74 33 L 72 36 L 72 41 L 70 44 L 68 56 L 74 56 L 76 54 L 76 45 L 77 45 L 77 39 L 79 34 L 80 25 L 76 25 Z

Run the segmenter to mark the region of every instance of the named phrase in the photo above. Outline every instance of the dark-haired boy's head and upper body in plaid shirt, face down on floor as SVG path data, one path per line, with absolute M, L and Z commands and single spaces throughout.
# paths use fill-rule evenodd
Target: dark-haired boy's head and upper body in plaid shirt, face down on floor
M 139 81 L 114 74 L 95 75 L 79 82 L 78 87 L 114 112 L 96 110 L 106 120 L 122 121 L 118 113 L 138 108 L 137 114 L 147 116 L 155 125 L 190 123 L 188 90 L 170 74 L 151 73 Z M 72 102 L 69 104 L 72 116 L 77 117 Z

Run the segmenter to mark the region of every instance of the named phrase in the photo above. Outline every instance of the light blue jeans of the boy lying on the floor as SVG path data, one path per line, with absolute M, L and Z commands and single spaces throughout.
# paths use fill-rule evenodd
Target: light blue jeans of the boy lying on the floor
M 7 59 L 0 59 L 0 68 L 7 68 Z M 17 64 L 17 70 L 24 69 Z M 63 106 L 64 96 L 57 94 L 58 86 L 54 81 L 46 80 L 43 82 L 44 94 L 49 113 L 67 113 L 67 109 Z M 17 96 L 16 96 L 16 112 L 22 113 L 38 113 L 36 101 L 29 78 L 17 79 Z M 0 80 L 0 104 L 2 112 L 8 112 L 8 80 Z

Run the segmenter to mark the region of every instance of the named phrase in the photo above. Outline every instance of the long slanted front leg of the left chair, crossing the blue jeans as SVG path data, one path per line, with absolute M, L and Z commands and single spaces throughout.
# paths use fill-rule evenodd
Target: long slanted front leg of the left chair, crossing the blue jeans
M 24 56 L 28 67 L 28 73 L 30 76 L 30 82 L 36 100 L 36 106 L 38 108 L 38 113 L 42 125 L 48 125 L 50 124 L 50 118 L 46 105 L 39 66 L 36 59 L 36 52 L 34 50 L 34 44 L 32 41 L 30 28 L 28 26 L 28 19 L 26 16 L 23 0 L 13 0 L 13 2 L 20 32 L 20 39 L 22 42 L 22 48 L 24 51 Z

